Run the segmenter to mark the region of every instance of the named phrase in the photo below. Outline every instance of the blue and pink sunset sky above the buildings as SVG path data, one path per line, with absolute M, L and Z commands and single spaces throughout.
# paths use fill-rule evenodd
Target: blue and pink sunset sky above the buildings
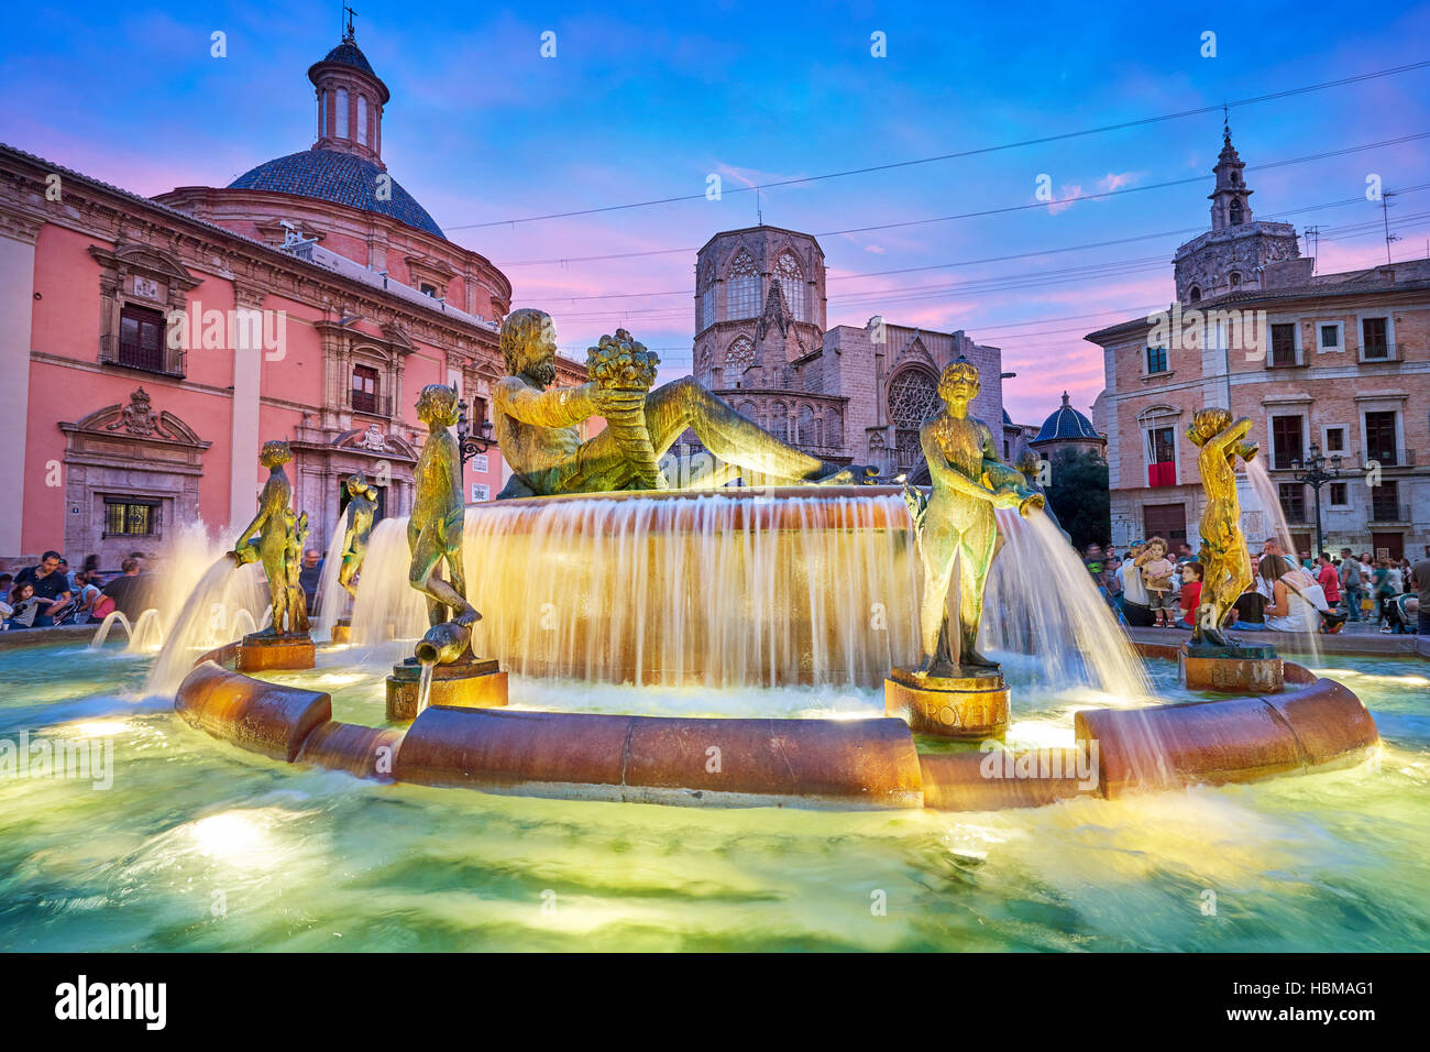
M 629 328 L 689 368 L 695 249 L 755 222 L 738 186 L 824 175 L 1216 106 L 1430 59 L 1430 6 L 465 4 L 356 3 L 358 43 L 392 90 L 383 159 L 453 240 L 545 306 L 582 355 Z M 312 145 L 305 76 L 340 4 L 21 6 L 0 40 L 0 140 L 140 193 L 226 185 Z M 210 34 L 227 57 L 210 57 Z M 542 59 L 541 34 L 556 33 Z M 887 57 L 871 56 L 871 34 Z M 1216 57 L 1203 34 L 1216 33 Z M 1386 187 L 1430 183 L 1430 139 L 1257 172 L 1257 165 L 1430 132 L 1430 67 L 1231 109 L 1258 218 L 1324 232 L 1318 271 L 1386 259 Z M 1015 419 L 1067 388 L 1087 408 L 1083 335 L 1165 305 L 1171 253 L 1208 223 L 1221 115 L 775 187 L 765 222 L 814 233 L 1204 176 L 1105 200 L 821 238 L 829 323 L 965 329 L 1004 348 Z M 702 195 L 719 202 L 478 223 Z M 1313 205 L 1351 202 L 1313 212 Z M 1396 259 L 1424 258 L 1430 190 L 1391 209 Z M 1161 232 L 1160 238 L 1144 235 Z M 1130 240 L 1103 248 L 1094 242 Z M 1304 246 L 1303 246 L 1304 248 Z M 599 262 L 542 262 L 633 255 Z M 1015 259 L 991 260 L 994 258 Z M 958 263 L 947 268 L 942 265 Z M 911 268 L 935 268 L 911 271 Z M 1104 268 L 1090 271 L 1087 268 Z M 904 273 L 888 273 L 905 271 Z M 981 283 L 980 283 L 981 282 Z M 632 295 L 666 293 L 666 295 Z

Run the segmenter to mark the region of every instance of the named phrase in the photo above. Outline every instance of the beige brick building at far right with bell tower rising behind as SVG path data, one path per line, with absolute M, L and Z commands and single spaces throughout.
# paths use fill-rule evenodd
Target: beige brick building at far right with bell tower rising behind
M 1300 551 L 1316 544 L 1316 494 L 1297 464 L 1321 452 L 1341 475 L 1320 490 L 1326 547 L 1430 552 L 1430 260 L 1314 272 L 1294 230 L 1251 219 L 1224 133 L 1213 229 L 1175 255 L 1177 302 L 1087 336 L 1103 348 L 1097 412 L 1108 439 L 1113 541 L 1198 544 L 1203 492 L 1184 432 L 1207 405 L 1254 422 L 1251 441 Z M 1258 471 L 1258 468 L 1253 468 Z M 1244 528 L 1274 508 L 1241 478 Z

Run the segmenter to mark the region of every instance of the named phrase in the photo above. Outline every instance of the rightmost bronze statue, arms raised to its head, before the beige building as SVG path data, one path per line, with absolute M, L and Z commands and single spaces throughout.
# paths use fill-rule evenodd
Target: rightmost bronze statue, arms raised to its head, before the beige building
M 1244 441 L 1251 418 L 1231 422 L 1230 409 L 1198 409 L 1187 438 L 1201 447 L 1197 469 L 1207 507 L 1201 512 L 1201 610 L 1193 618 L 1191 641 L 1214 647 L 1236 646 L 1221 633 L 1221 624 L 1237 598 L 1251 584 L 1246 537 L 1241 534 L 1241 504 L 1237 500 L 1236 458 L 1251 459 L 1256 442 Z

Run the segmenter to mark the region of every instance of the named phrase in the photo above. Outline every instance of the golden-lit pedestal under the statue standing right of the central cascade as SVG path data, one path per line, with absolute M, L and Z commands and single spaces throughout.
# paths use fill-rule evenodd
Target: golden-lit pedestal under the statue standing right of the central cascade
M 895 668 L 884 680 L 884 713 L 915 734 L 981 741 L 1008 729 L 1008 684 L 997 668 L 915 676 Z

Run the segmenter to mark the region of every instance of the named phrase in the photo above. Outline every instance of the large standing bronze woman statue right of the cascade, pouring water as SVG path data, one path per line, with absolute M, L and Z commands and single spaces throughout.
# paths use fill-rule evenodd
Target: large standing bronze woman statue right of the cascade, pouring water
M 978 368 L 960 358 L 938 381 L 941 409 L 919 429 L 932 495 L 911 501 L 914 531 L 924 560 L 919 638 L 924 661 L 917 677 L 955 677 L 960 670 L 998 668 L 975 648 L 982 621 L 984 584 L 998 542 L 994 508 L 1017 508 L 1027 515 L 1042 497 L 1022 475 L 998 459 L 992 432 L 968 415 L 978 396 Z M 912 491 L 918 492 L 918 491 Z M 954 663 L 948 627 L 948 587 L 954 562 L 958 581 L 958 660 Z

